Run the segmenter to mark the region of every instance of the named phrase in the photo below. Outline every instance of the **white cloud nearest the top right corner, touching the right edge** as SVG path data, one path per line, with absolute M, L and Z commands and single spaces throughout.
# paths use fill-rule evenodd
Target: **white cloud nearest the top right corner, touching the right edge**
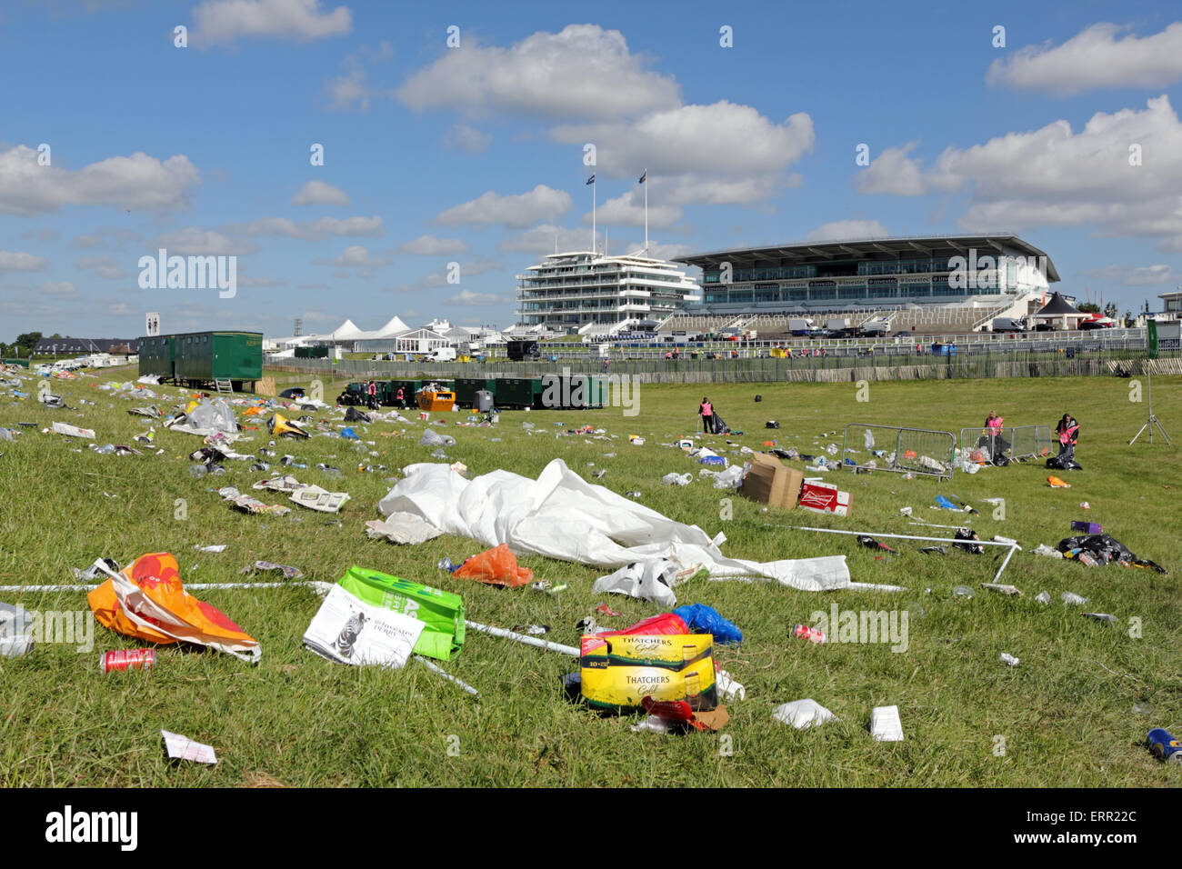
M 1028 45 L 989 64 L 986 80 L 1021 90 L 1080 93 L 1097 87 L 1165 87 L 1182 80 L 1182 22 L 1138 39 L 1093 24 L 1060 46 Z

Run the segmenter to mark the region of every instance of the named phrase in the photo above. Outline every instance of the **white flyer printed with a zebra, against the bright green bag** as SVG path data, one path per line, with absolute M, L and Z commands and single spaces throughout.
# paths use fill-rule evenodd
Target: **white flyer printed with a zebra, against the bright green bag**
M 423 623 L 378 609 L 333 585 L 304 634 L 304 644 L 330 661 L 358 666 L 402 667 Z

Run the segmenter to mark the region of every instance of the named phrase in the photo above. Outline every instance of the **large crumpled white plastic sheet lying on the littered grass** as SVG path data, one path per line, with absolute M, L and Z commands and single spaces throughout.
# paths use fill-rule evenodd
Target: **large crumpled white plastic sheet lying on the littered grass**
M 428 462 L 409 465 L 403 473 L 405 479 L 378 504 L 383 514 L 415 513 L 446 533 L 486 546 L 505 543 L 517 553 L 597 568 L 668 558 L 682 570 L 700 565 L 712 579 L 762 577 L 803 591 L 850 585 L 845 556 L 764 563 L 727 558 L 696 525 L 592 485 L 561 459 L 537 480 L 508 471 L 466 480 L 447 465 Z

